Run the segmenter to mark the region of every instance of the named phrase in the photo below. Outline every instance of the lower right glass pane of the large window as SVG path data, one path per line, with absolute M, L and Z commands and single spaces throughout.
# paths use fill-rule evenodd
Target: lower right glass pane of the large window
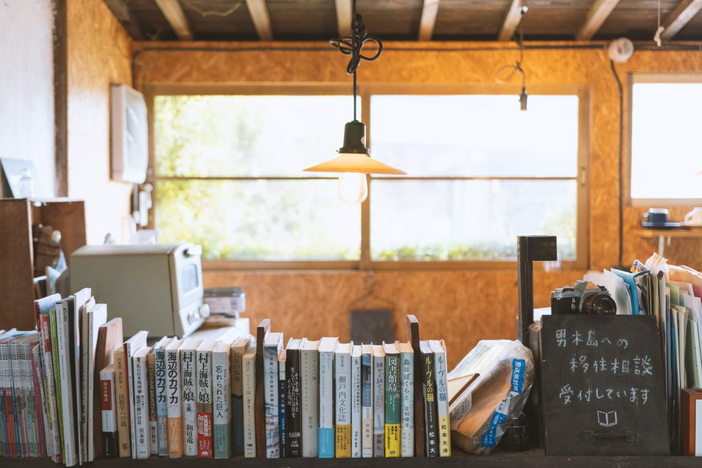
M 373 260 L 507 260 L 517 236 L 558 236 L 576 253 L 575 180 L 371 181 Z

